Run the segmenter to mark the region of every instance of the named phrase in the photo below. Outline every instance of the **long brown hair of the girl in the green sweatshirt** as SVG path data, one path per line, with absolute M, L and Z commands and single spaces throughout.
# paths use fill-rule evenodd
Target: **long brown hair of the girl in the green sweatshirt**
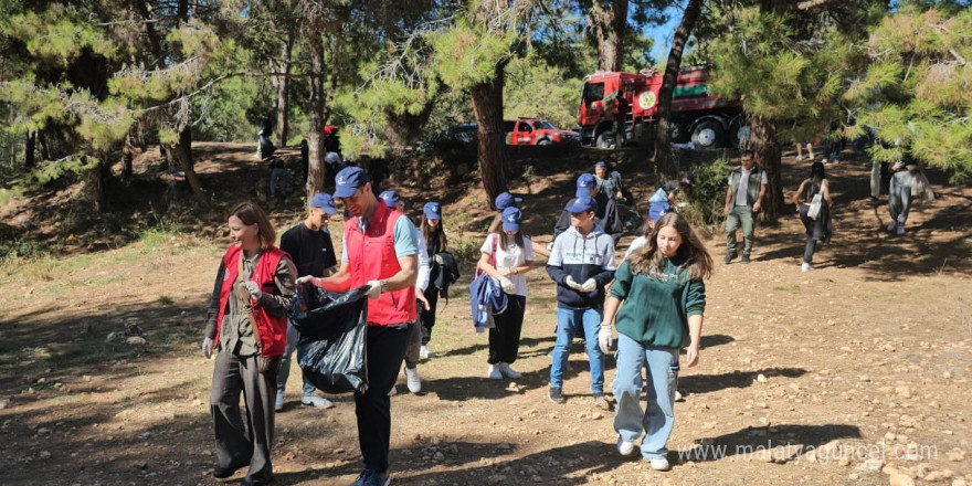
M 651 235 L 647 236 L 645 246 L 637 250 L 631 256 L 631 268 L 634 273 L 644 275 L 662 273 L 662 252 L 658 251 L 658 232 L 663 228 L 672 226 L 682 235 L 682 244 L 678 245 L 678 256 L 685 258 L 679 268 L 689 270 L 689 278 L 700 281 L 712 276 L 712 257 L 706 250 L 706 245 L 698 239 L 688 221 L 676 212 L 662 215 Z

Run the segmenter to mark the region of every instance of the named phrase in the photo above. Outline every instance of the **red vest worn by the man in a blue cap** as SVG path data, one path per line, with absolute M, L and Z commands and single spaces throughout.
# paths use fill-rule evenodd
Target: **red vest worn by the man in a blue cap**
M 378 201 L 366 233 L 361 232 L 360 218 L 345 223 L 345 253 L 351 288 L 366 285 L 368 281 L 391 278 L 402 267 L 394 251 L 394 225 L 402 213 Z M 415 287 L 382 293 L 377 300 L 368 302 L 368 324 L 389 326 L 415 320 Z

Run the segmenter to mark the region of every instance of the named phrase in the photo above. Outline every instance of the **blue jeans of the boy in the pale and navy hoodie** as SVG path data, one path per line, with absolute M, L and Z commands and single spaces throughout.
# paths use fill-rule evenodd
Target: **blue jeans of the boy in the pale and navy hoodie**
M 557 308 L 557 344 L 553 345 L 553 364 L 550 367 L 550 387 L 563 388 L 563 370 L 570 356 L 570 344 L 578 324 L 584 327 L 588 345 L 588 361 L 591 363 L 591 393 L 604 393 L 604 353 L 598 347 L 598 332 L 601 331 L 601 308 L 564 309 Z

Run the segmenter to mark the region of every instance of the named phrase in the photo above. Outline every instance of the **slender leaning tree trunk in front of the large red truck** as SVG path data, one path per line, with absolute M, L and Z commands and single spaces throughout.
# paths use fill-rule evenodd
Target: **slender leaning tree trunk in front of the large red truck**
M 675 30 L 672 40 L 672 49 L 668 51 L 668 63 L 665 65 L 665 75 L 662 78 L 662 87 L 658 88 L 658 116 L 655 123 L 655 173 L 658 179 L 676 178 L 678 168 L 672 160 L 672 140 L 669 138 L 672 120 L 672 95 L 678 81 L 678 71 L 682 67 L 682 54 L 685 52 L 685 43 L 691 34 L 693 28 L 701 12 L 701 0 L 688 0 L 682 23 Z

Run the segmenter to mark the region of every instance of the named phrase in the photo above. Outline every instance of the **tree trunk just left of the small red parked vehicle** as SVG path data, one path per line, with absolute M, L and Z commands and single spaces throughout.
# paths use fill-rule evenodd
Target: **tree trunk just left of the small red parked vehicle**
M 487 83 L 472 87 L 473 112 L 479 125 L 479 177 L 489 209 L 496 209 L 496 196 L 506 191 L 506 137 L 503 130 L 503 82 L 505 63 L 497 63 L 496 74 Z

